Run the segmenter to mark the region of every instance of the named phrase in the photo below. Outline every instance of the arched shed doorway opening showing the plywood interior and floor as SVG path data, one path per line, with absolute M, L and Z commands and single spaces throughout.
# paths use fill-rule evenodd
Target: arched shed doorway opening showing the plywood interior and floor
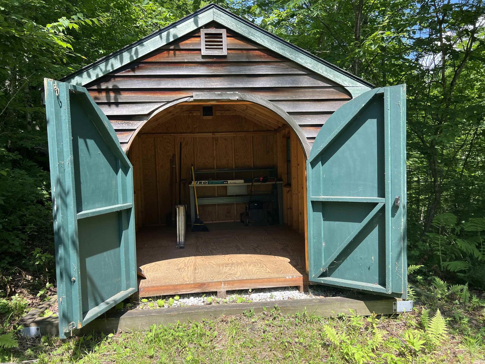
M 252 98 L 231 93 L 179 99 L 153 113 L 130 140 L 138 265 L 147 276 L 141 296 L 306 283 L 309 148 L 288 114 Z M 239 183 L 238 191 L 224 183 L 197 185 L 199 213 L 210 232 L 188 232 L 186 248 L 176 249 L 170 226 L 176 204 L 191 210 L 191 165 L 197 181 L 211 183 L 274 173 L 277 182 L 258 185 L 258 193 L 263 202 L 265 196 L 274 199 L 266 202 L 275 225 L 240 222 L 251 195 L 248 182 Z

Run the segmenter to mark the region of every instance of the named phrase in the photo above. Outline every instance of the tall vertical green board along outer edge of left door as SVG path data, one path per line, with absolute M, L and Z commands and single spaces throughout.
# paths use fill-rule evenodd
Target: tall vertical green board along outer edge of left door
M 72 162 L 72 137 L 70 128 L 69 90 L 64 83 L 44 79 L 46 114 L 49 142 L 50 180 L 52 184 L 52 209 L 56 254 L 56 277 L 60 331 L 69 331 L 68 326 L 82 321 L 80 266 L 76 219 L 76 191 L 64 186 L 74 183 Z M 71 248 L 72 247 L 72 248 Z M 74 279 L 74 283 L 71 282 Z M 72 305 L 65 297 L 72 298 Z

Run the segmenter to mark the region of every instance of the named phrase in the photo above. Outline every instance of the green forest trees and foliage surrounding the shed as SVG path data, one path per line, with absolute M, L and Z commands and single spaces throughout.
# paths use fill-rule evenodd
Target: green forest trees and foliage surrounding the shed
M 407 84 L 408 260 L 483 289 L 483 1 L 214 2 L 376 87 Z M 53 279 L 43 78 L 207 3 L 0 0 L 0 293 L 13 293 L 25 275 L 42 287 Z

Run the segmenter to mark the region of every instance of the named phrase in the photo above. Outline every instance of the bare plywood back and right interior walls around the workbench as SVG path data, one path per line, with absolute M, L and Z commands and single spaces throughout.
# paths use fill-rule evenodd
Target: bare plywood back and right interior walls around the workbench
M 169 119 L 146 124 L 133 140 L 129 158 L 134 167 L 135 211 L 137 229 L 166 224 L 173 199 L 178 199 L 178 184 L 171 185 L 171 173 L 178 174 L 179 145 L 182 143 L 181 178 L 187 179 L 182 190 L 190 208 L 188 182 L 190 167 L 195 169 L 276 166 L 283 180 L 285 224 L 306 235 L 306 161 L 296 134 L 288 127 L 275 129 L 242 116 L 239 109 L 214 105 L 214 116 L 203 118 L 201 105 L 174 113 Z M 220 134 L 224 133 L 224 134 Z M 289 138 L 289 139 L 288 139 Z M 291 145 L 291 180 L 288 180 L 286 148 Z M 170 161 L 175 156 L 175 169 Z M 177 172 L 175 172 L 177 170 Z M 247 178 L 250 175 L 219 173 L 210 178 Z M 225 196 L 226 187 L 200 187 L 199 197 Z M 201 205 L 205 222 L 238 221 L 244 204 Z

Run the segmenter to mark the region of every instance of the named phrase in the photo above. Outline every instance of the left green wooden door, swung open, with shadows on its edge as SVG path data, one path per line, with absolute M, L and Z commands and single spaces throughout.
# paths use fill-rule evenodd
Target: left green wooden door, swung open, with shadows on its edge
M 137 291 L 133 171 L 84 87 L 44 80 L 59 332 Z

